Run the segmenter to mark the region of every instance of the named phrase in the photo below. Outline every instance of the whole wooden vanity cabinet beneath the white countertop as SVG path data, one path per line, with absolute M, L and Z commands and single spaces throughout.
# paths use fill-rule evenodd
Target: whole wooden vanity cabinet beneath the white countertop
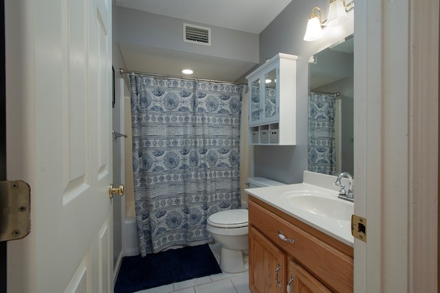
M 353 292 L 351 246 L 253 196 L 249 227 L 253 293 Z

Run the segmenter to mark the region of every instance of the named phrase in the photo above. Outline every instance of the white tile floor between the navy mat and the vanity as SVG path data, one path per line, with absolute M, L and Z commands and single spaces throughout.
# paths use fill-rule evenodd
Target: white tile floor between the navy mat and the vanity
M 219 261 L 221 246 L 210 245 L 214 257 Z M 247 265 L 248 259 L 245 258 Z M 249 273 L 238 274 L 212 274 L 211 276 L 187 280 L 179 283 L 163 285 L 157 288 L 141 290 L 135 293 L 250 293 Z

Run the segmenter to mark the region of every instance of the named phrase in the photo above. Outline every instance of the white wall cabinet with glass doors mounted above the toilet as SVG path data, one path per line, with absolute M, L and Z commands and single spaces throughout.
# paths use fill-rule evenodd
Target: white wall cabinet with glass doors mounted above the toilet
M 296 144 L 297 59 L 280 53 L 246 76 L 251 144 Z

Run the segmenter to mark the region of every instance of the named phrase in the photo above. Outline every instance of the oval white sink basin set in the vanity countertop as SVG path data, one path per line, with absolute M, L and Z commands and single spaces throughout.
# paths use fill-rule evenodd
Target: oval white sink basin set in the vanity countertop
M 350 221 L 353 203 L 318 191 L 289 191 L 282 195 L 294 209 L 334 220 Z

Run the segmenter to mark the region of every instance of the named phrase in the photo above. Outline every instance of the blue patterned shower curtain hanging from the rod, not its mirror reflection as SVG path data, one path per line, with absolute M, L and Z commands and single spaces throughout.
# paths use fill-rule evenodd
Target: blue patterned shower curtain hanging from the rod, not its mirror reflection
M 240 207 L 242 90 L 233 84 L 131 75 L 142 256 L 207 242 L 208 216 Z

